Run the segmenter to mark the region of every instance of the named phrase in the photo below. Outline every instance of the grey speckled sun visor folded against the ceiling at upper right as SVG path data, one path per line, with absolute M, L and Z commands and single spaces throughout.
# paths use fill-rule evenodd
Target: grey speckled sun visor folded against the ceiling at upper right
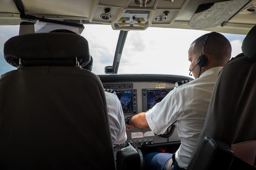
M 250 1 L 233 0 L 201 4 L 187 25 L 193 29 L 217 27 L 232 19 Z

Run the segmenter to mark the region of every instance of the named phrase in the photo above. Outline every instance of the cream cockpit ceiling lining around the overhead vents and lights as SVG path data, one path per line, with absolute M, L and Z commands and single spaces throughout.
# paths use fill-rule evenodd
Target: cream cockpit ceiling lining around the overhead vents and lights
M 21 0 L 25 13 L 37 17 L 45 16 L 49 19 L 80 19 L 91 22 L 111 24 L 113 29 L 119 30 L 144 30 L 147 27 L 167 27 L 191 29 L 187 24 L 200 4 L 219 2 L 220 0 L 149 0 L 147 7 L 139 7 L 138 0 Z M 241 1 L 241 0 L 234 0 Z M 253 0 L 248 6 L 256 4 Z M 253 6 L 252 6 L 253 7 Z M 102 20 L 99 15 L 103 14 L 104 8 L 111 8 L 113 16 L 109 20 Z M 255 7 L 256 11 L 256 5 Z M 126 10 L 148 10 L 148 24 L 144 27 L 116 27 Z M 165 16 L 169 11 L 168 18 L 164 21 L 155 21 L 157 16 Z M 256 12 L 241 10 L 225 27 L 205 28 L 204 30 L 246 34 L 256 24 Z M 19 24 L 19 12 L 13 0 L 0 0 L 0 25 Z M 164 18 L 164 17 L 163 17 Z M 204 23 L 204 22 L 203 22 Z M 197 23 L 195 23 L 197 24 Z M 201 24 L 202 25 L 202 24 Z

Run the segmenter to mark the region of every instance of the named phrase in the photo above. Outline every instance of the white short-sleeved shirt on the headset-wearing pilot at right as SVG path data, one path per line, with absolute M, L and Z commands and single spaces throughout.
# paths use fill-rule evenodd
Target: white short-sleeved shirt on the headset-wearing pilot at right
M 203 129 L 212 91 L 221 69 L 211 68 L 199 78 L 174 88 L 160 103 L 146 112 L 148 125 L 156 134 L 163 134 L 177 120 L 181 145 L 175 158 L 181 168 L 187 169 Z

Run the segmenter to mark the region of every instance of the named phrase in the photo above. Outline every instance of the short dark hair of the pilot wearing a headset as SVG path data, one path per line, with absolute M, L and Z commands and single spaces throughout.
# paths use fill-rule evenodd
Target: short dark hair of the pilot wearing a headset
M 226 64 L 231 57 L 231 44 L 226 37 L 217 32 L 207 33 L 192 42 L 194 44 L 193 52 L 198 53 L 200 57 L 203 47 L 203 41 L 208 36 L 205 43 L 204 52 L 207 52 L 216 63 Z M 191 45 L 192 45 L 191 44 Z

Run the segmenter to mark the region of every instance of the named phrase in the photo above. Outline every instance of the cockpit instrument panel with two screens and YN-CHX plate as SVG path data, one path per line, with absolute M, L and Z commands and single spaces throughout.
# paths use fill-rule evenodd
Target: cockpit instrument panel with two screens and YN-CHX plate
M 174 89 L 177 81 L 191 79 L 175 75 L 99 75 L 99 77 L 104 88 L 115 90 L 121 102 L 124 118 L 148 111 Z M 169 130 L 170 128 L 165 133 Z M 126 131 L 126 134 L 127 141 L 125 144 L 114 145 L 115 151 L 128 142 L 138 148 L 180 144 L 177 130 L 168 138 L 160 137 L 150 129 L 133 128 Z

